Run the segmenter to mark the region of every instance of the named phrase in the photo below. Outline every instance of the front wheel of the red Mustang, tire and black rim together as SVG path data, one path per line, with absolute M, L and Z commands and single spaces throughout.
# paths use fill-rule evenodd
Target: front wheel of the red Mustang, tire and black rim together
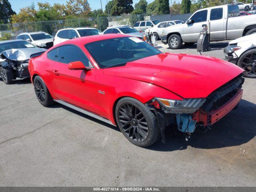
M 116 104 L 116 122 L 122 134 L 134 145 L 147 147 L 160 137 L 157 120 L 140 101 L 125 97 Z

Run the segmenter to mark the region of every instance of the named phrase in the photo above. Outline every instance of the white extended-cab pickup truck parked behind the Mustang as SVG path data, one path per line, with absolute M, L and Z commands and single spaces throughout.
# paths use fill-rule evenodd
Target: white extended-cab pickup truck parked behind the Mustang
M 197 42 L 203 26 L 210 26 L 210 41 L 236 39 L 256 32 L 256 14 L 240 16 L 237 5 L 222 5 L 196 11 L 184 24 L 163 30 L 161 40 L 171 49 Z

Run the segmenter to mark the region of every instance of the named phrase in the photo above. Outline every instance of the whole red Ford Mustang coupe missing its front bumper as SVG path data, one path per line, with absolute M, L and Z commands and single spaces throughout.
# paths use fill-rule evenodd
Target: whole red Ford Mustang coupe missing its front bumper
M 190 135 L 238 105 L 243 70 L 208 56 L 162 53 L 142 40 L 106 34 L 68 40 L 30 59 L 39 102 L 55 102 L 120 128 L 146 147 L 175 124 Z M 225 75 L 224 75 L 225 74 Z

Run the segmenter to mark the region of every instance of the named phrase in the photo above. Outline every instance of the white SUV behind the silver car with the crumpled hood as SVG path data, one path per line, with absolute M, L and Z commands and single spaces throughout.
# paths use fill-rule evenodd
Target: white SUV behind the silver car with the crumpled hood
M 16 39 L 26 40 L 39 48 L 48 49 L 53 46 L 53 36 L 43 31 L 21 33 L 16 37 Z

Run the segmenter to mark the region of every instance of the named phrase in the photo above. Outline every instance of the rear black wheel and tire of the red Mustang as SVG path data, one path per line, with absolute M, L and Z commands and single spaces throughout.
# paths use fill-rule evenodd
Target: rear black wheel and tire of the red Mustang
M 48 88 L 46 87 L 46 84 L 40 76 L 36 76 L 34 78 L 34 90 L 40 104 L 42 104 L 45 107 L 54 104 L 54 100 L 52 99 L 52 96 Z

